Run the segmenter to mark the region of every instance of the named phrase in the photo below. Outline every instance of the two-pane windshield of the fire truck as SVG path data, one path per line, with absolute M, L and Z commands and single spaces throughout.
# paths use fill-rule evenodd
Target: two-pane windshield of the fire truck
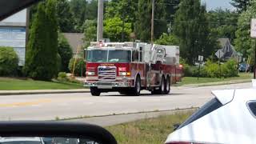
M 130 50 L 88 50 L 87 62 L 130 62 Z

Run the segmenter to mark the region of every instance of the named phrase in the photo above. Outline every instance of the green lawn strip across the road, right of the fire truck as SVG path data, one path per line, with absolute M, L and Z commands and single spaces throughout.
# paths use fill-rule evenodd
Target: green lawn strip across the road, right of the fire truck
M 199 84 L 199 83 L 209 83 L 209 82 L 230 82 L 234 80 L 249 80 L 253 78 L 253 74 L 240 73 L 239 77 L 234 78 L 196 78 L 196 77 L 184 77 L 182 82 L 175 84 L 174 86 L 182 86 L 188 84 Z

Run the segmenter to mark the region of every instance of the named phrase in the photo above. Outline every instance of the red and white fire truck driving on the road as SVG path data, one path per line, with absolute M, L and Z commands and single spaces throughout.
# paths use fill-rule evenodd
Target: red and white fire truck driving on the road
M 85 50 L 86 82 L 90 93 L 118 91 L 140 95 L 169 94 L 171 83 L 182 80 L 179 47 L 142 42 L 91 42 Z

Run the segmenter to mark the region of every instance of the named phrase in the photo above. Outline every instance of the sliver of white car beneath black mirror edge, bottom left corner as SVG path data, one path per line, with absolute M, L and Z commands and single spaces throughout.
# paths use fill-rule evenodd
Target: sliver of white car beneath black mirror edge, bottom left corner
M 1 144 L 44 144 L 39 137 L 0 137 Z

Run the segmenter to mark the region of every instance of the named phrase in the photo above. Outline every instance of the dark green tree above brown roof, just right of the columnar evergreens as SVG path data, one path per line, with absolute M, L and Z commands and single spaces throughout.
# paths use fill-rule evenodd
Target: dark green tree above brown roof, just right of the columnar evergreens
M 70 4 L 67 0 L 57 0 L 56 3 L 58 26 L 61 32 L 74 32 L 74 16 L 70 10 Z

